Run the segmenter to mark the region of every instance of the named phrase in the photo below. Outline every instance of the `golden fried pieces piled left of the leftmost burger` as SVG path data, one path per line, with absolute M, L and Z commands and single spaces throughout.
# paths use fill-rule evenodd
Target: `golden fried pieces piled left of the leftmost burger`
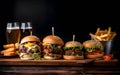
M 16 56 L 18 54 L 19 43 L 3 45 L 4 50 L 0 53 L 3 56 Z

